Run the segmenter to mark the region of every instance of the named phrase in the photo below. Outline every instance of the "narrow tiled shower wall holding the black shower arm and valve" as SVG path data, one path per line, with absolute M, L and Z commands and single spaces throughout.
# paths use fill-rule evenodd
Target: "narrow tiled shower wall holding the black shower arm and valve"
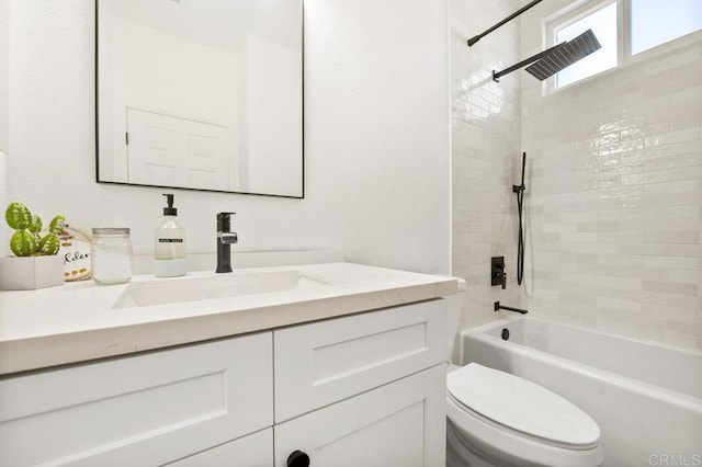
M 495 301 L 520 306 L 512 193 L 521 178 L 520 83 L 511 76 L 499 83 L 492 80 L 494 69 L 519 61 L 519 22 L 473 47 L 466 44 L 519 7 L 518 0 L 451 2 L 452 273 L 467 282 L 460 329 L 509 315 L 495 312 Z M 506 291 L 490 286 L 490 257 L 497 255 L 505 257 Z

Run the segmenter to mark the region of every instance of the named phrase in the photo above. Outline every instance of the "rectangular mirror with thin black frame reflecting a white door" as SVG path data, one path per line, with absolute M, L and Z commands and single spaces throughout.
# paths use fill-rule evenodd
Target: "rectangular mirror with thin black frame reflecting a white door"
M 303 197 L 302 0 L 95 0 L 98 182 Z

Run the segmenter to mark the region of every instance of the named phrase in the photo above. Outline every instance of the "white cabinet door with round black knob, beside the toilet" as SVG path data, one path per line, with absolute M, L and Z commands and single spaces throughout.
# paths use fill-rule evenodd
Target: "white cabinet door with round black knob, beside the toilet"
M 445 465 L 445 364 L 275 426 L 275 466 Z

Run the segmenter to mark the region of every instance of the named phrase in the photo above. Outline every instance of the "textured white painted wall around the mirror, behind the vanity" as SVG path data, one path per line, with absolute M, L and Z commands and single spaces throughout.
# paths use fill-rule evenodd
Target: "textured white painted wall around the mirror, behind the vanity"
M 92 0 L 11 0 L 11 198 L 152 252 L 163 190 L 94 182 Z M 350 261 L 450 271 L 444 1 L 305 2 L 305 200 L 174 191 L 190 252 L 338 247 Z

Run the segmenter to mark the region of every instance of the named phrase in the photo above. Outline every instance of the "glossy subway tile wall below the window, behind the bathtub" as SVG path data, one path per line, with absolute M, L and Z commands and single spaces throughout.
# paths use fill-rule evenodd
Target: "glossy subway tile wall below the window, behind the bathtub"
M 521 107 L 530 312 L 702 349 L 702 44 Z

